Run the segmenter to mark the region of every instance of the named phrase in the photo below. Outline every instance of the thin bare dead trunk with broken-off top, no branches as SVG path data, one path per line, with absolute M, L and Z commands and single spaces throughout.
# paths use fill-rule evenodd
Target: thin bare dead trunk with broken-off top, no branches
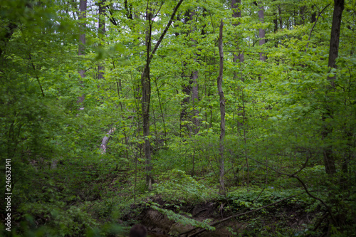
M 222 78 L 224 71 L 224 51 L 222 45 L 222 32 L 223 32 L 224 23 L 221 19 L 220 28 L 219 28 L 219 58 L 220 58 L 220 70 L 219 76 L 217 78 L 217 85 L 220 97 L 220 141 L 219 141 L 219 163 L 220 163 L 220 172 L 219 172 L 219 182 L 220 182 L 220 194 L 225 194 L 225 167 L 224 167 L 224 138 L 225 138 L 225 96 L 222 90 Z

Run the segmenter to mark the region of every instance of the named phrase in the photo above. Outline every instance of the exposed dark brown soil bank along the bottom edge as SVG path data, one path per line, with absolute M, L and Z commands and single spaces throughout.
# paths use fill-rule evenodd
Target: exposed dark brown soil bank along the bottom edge
M 164 201 L 155 200 L 156 203 L 164 206 Z M 142 206 L 132 206 L 132 209 L 142 209 Z M 174 208 L 170 208 L 172 211 L 178 213 Z M 197 221 L 204 221 L 205 219 L 211 219 L 210 223 L 232 216 L 236 213 L 231 213 L 223 209 L 221 210 L 221 203 L 209 202 L 205 204 L 196 204 L 192 206 L 182 206 L 179 211 L 192 214 L 192 218 Z M 246 233 L 246 231 L 253 231 L 253 228 L 266 228 L 273 236 L 276 231 L 281 231 L 281 228 L 290 228 L 294 231 L 302 231 L 305 229 L 305 224 L 310 223 L 315 215 L 306 214 L 301 206 L 290 206 L 281 203 L 280 205 L 273 206 L 266 209 L 267 213 L 249 214 L 248 216 L 241 216 L 240 218 L 231 218 L 229 221 L 220 223 L 216 227 L 215 231 L 204 231 L 197 236 L 200 237 L 229 237 L 236 236 L 231 233 Z M 188 216 L 186 216 L 188 217 Z M 159 213 L 150 208 L 142 209 L 139 216 L 130 216 L 147 227 L 149 236 L 151 237 L 164 237 L 164 236 L 180 236 L 188 237 L 194 236 L 194 233 L 201 230 L 201 228 L 194 229 L 193 226 L 182 225 L 169 220 L 167 216 Z M 228 230 L 230 228 L 230 231 Z M 251 232 L 250 232 L 251 233 Z M 277 234 L 277 233 L 276 233 Z M 244 235 L 243 235 L 244 236 Z

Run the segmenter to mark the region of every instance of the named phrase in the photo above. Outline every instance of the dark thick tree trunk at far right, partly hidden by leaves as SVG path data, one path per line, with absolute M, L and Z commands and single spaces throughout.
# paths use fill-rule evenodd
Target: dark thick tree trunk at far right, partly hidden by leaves
M 331 26 L 330 33 L 330 51 L 329 51 L 329 61 L 328 67 L 336 68 L 336 58 L 339 54 L 339 41 L 340 41 L 340 28 L 341 28 L 341 18 L 342 11 L 344 10 L 344 0 L 334 0 L 334 13 L 333 13 L 333 25 Z M 328 94 L 329 90 L 335 88 L 335 76 L 328 77 L 330 85 L 327 88 L 326 93 Z M 323 114 L 323 121 L 325 122 L 327 117 L 332 117 L 333 111 L 330 111 L 328 105 L 325 114 Z M 331 125 L 325 124 L 322 131 L 323 139 L 326 139 L 333 132 Z M 325 172 L 327 174 L 335 174 L 335 159 L 333 155 L 333 147 L 328 144 L 323 149 L 324 154 L 324 163 L 325 163 Z

